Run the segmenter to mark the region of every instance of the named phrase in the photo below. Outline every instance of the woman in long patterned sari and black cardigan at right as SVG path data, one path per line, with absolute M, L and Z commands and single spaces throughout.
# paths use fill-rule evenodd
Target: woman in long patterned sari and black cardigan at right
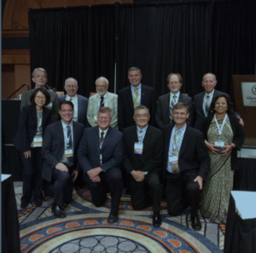
M 245 131 L 239 118 L 230 113 L 231 103 L 225 95 L 212 99 L 204 135 L 211 167 L 202 191 L 201 213 L 212 222 L 226 223 L 236 170 L 237 150 L 241 149 Z

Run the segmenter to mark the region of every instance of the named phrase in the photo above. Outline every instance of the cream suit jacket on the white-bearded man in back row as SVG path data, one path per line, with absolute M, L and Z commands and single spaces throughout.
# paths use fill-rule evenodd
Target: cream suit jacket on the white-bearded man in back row
M 119 129 L 118 127 L 118 95 L 110 93 L 107 91 L 107 105 L 112 110 L 112 122 L 110 126 L 114 129 Z M 93 121 L 94 116 L 98 115 L 98 102 L 100 95 L 92 95 L 89 98 L 88 110 L 87 110 L 87 119 L 89 124 L 92 127 L 97 126 L 98 124 Z

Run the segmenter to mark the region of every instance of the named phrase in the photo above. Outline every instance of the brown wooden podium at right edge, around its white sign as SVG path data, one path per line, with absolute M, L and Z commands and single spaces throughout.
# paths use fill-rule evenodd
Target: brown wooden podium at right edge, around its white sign
M 256 106 L 243 105 L 241 83 L 256 84 L 256 75 L 232 76 L 236 112 L 241 115 L 244 121 L 244 129 L 246 130 L 246 139 L 243 146 L 256 147 Z

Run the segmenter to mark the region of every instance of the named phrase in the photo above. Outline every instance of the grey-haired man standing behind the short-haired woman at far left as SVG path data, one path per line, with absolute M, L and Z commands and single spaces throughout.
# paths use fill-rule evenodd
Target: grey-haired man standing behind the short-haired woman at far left
M 45 89 L 45 85 L 47 83 L 47 72 L 44 70 L 44 68 L 38 67 L 32 72 L 32 81 L 35 83 L 35 89 L 37 88 Z M 22 93 L 20 110 L 22 109 L 23 106 L 31 105 L 30 97 L 33 91 L 34 89 L 31 89 Z M 50 96 L 50 103 L 46 107 L 49 108 L 52 112 L 51 122 L 55 122 L 59 118 L 59 99 L 58 99 L 58 95 L 55 92 L 49 89 L 48 89 L 48 92 Z

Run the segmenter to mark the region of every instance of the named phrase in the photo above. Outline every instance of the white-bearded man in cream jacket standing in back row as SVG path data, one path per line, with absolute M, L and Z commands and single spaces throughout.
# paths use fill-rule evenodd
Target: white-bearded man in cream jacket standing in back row
M 96 95 L 89 98 L 87 119 L 90 126 L 95 127 L 98 125 L 97 115 L 100 107 L 108 106 L 112 110 L 112 122 L 110 126 L 118 129 L 118 95 L 108 92 L 108 79 L 96 79 Z

